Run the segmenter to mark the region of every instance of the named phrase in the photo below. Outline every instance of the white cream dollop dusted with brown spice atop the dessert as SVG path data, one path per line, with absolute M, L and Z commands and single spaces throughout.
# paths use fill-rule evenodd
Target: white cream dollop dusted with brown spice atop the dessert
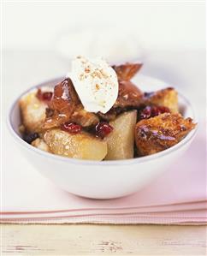
M 115 104 L 118 78 L 115 70 L 102 58 L 76 57 L 68 77 L 86 111 L 105 114 Z

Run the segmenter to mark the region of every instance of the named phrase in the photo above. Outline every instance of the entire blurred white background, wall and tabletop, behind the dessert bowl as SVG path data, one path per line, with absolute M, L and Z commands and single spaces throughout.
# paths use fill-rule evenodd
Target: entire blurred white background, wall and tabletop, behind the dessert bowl
M 198 1 L 3 3 L 5 105 L 29 86 L 68 72 L 68 60 L 57 51 L 62 34 L 73 38 L 79 30 L 96 29 L 98 34 L 108 28 L 129 41 L 130 33 L 135 35 L 145 52 L 141 72 L 169 82 L 192 100 L 199 114 L 204 112 L 205 4 Z M 115 42 L 104 51 L 115 49 Z M 85 44 L 82 39 L 80 47 Z M 125 60 L 121 47 L 117 54 Z

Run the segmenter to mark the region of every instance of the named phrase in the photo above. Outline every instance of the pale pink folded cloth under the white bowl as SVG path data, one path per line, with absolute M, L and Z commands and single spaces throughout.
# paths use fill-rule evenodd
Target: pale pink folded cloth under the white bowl
M 8 141 L 12 145 L 12 141 Z M 3 171 L 2 223 L 207 223 L 205 126 L 174 166 L 120 199 L 84 199 L 56 188 L 18 151 Z

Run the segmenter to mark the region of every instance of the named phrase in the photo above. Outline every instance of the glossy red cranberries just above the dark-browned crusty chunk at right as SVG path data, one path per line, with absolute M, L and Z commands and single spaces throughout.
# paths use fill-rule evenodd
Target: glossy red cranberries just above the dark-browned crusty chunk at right
M 148 119 L 150 117 L 159 116 L 163 113 L 169 113 L 168 107 L 164 106 L 146 106 L 139 112 L 139 119 Z

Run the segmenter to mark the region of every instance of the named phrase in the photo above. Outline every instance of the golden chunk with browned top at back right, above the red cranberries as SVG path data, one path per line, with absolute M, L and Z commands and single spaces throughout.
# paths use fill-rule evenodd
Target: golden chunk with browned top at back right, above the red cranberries
M 145 93 L 144 104 L 168 107 L 172 113 L 178 113 L 178 93 L 171 87 Z

